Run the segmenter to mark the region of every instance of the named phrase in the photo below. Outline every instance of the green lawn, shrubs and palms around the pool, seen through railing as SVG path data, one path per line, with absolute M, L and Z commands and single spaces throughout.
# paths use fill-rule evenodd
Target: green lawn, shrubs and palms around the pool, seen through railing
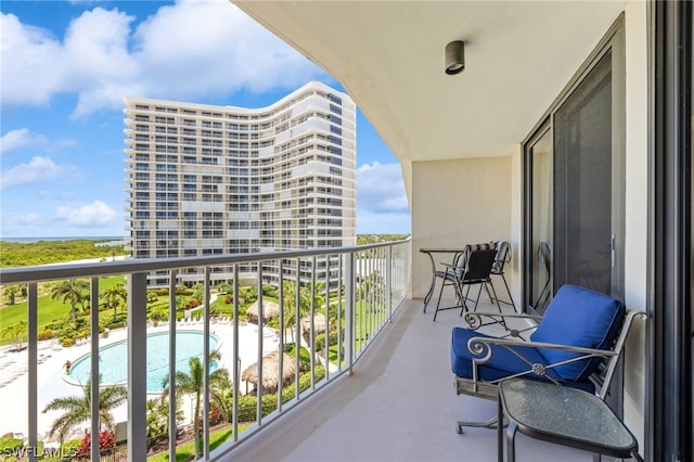
M 62 281 L 53 284 L 40 284 L 39 287 L 39 317 L 38 317 L 38 326 L 39 326 L 39 339 L 50 339 L 53 338 L 54 342 L 60 342 L 64 347 L 70 347 L 76 343 L 79 343 L 81 338 L 88 337 L 90 335 L 90 309 L 91 306 L 90 300 L 86 298 L 86 295 L 89 293 L 89 285 L 86 284 L 87 280 L 70 280 L 70 281 Z M 295 296 L 295 287 L 294 283 L 285 283 L 284 287 L 284 300 L 286 301 L 284 307 L 284 322 L 285 325 L 294 325 L 296 323 L 296 309 L 294 307 Z M 363 287 L 371 287 L 370 291 L 373 291 L 375 285 L 370 283 L 362 283 Z M 110 277 L 100 280 L 100 332 L 104 332 L 106 329 L 115 330 L 123 328 L 127 320 L 127 291 L 125 288 L 125 279 L 123 277 Z M 365 288 L 364 288 L 365 290 Z M 249 315 L 248 308 L 257 300 L 258 298 L 258 288 L 255 286 L 244 286 L 239 288 L 239 298 L 240 298 L 240 309 L 239 309 L 239 320 L 240 321 L 248 321 L 253 319 L 253 316 Z M 265 303 L 275 303 L 278 304 L 278 287 L 266 285 L 262 287 L 264 292 L 264 301 Z M 214 290 L 214 301 L 210 304 L 210 315 L 214 317 L 223 317 L 230 318 L 233 315 L 233 299 L 230 294 L 233 293 L 233 287 L 230 284 L 222 283 L 215 287 Z M 299 371 L 300 371 L 300 380 L 299 380 L 299 389 L 305 390 L 309 386 L 311 386 L 311 356 L 316 355 L 318 351 L 322 352 L 323 357 L 327 357 L 329 361 L 332 363 L 337 363 L 342 360 L 339 351 L 342 348 L 337 345 L 337 339 L 339 337 L 338 332 L 336 331 L 336 326 L 338 325 L 337 317 L 344 317 L 344 300 L 339 296 L 339 294 L 333 294 L 332 297 L 325 303 L 325 299 L 322 295 L 325 294 L 325 288 L 322 284 L 317 284 L 316 290 L 311 291 L 310 287 L 301 287 L 299 294 L 299 316 L 305 318 L 307 315 L 310 315 L 311 309 L 311 298 L 313 299 L 314 307 L 314 316 L 322 316 L 323 318 L 327 318 L 326 325 L 330 326 L 329 332 L 320 332 L 318 335 L 313 337 L 313 350 L 316 352 L 310 352 L 306 348 L 301 347 L 299 354 Z M 5 294 L 5 299 L 8 298 Z M 192 287 L 180 286 L 177 287 L 177 307 L 176 307 L 176 316 L 177 319 L 182 318 L 187 312 L 192 313 L 192 316 L 203 316 L 204 310 L 202 307 L 202 298 L 203 298 L 203 286 L 202 284 L 193 285 Z M 359 298 L 365 298 L 365 293 Z M 12 324 L 3 328 L 0 331 L 0 335 L 2 336 L 2 341 L 5 343 L 14 343 L 22 344 L 26 339 L 26 300 L 23 299 L 21 291 L 18 294 L 15 294 L 15 305 L 5 306 L 2 308 L 2 319 L 3 326 L 7 325 L 7 322 L 12 322 Z M 327 310 L 325 307 L 330 307 Z M 343 307 L 342 312 L 338 312 L 338 307 Z M 356 338 L 357 338 L 357 348 L 361 345 L 369 336 L 369 326 L 367 322 L 360 322 L 360 319 L 365 319 L 365 305 L 360 300 L 356 307 Z M 154 290 L 147 293 L 147 318 L 150 322 L 155 325 L 157 322 L 164 322 L 168 320 L 169 317 L 169 294 L 167 290 Z M 255 319 L 257 322 L 257 318 Z M 279 316 L 273 316 L 267 320 L 267 325 L 274 329 L 280 329 L 279 325 Z M 344 326 L 344 321 L 340 321 L 340 325 Z M 324 328 L 323 328 L 324 329 Z M 305 332 L 304 342 L 306 344 L 310 344 L 310 336 L 308 332 Z M 342 338 L 344 339 L 344 334 L 342 334 Z M 327 339 L 329 348 L 325 349 L 325 344 Z M 285 352 L 290 355 L 291 358 L 295 357 L 295 348 L 296 346 L 292 343 L 285 345 Z M 320 381 L 324 377 L 324 370 L 318 361 L 313 362 L 313 380 Z M 200 364 L 191 364 L 191 372 L 189 377 L 198 376 L 193 373 L 193 368 L 200 368 Z M 231 413 L 231 400 L 233 398 L 233 384 L 229 378 L 229 372 L 219 369 L 215 371 L 215 374 L 219 375 L 219 380 L 215 378 L 210 381 L 211 394 L 210 397 L 210 426 L 214 428 L 214 440 L 216 444 L 221 444 L 229 438 L 232 437 L 231 433 L 231 422 L 232 422 L 232 413 Z M 202 384 L 191 385 L 190 380 L 187 381 L 184 376 L 178 376 L 177 374 L 177 383 L 176 387 L 178 389 L 177 395 L 181 396 L 182 394 L 193 394 L 193 396 L 197 396 L 202 390 Z M 286 383 L 286 386 L 282 389 L 282 402 L 287 402 L 295 397 L 296 386 L 292 383 Z M 102 388 L 100 395 L 102 396 L 118 396 L 120 400 L 114 399 L 108 401 L 108 403 L 103 403 L 100 406 L 102 410 L 106 412 L 107 410 L 114 407 L 117 407 L 123 402 L 124 390 L 117 390 L 114 388 L 118 388 L 117 386 L 105 386 Z M 88 402 L 86 396 L 88 396 L 85 390 L 85 396 L 75 396 L 75 397 L 66 397 L 64 399 L 59 400 L 57 402 L 51 402 L 47 406 L 47 410 L 60 410 L 65 409 L 66 412 L 72 415 L 72 419 L 66 420 L 56 420 L 54 424 L 54 428 L 52 432 L 54 436 L 60 436 L 61 440 L 64 435 L 69 433 L 69 429 L 75 425 L 83 424 L 89 421 L 89 407 L 85 403 Z M 113 395 L 110 395 L 113 394 Z M 257 412 L 257 396 L 256 394 L 248 394 L 239 396 L 239 422 L 254 422 L 256 420 Z M 267 390 L 264 389 L 261 394 L 261 409 L 262 414 L 267 415 L 273 412 L 278 407 L 278 395 L 277 390 Z M 69 403 L 69 406 L 66 406 Z M 79 403 L 86 406 L 86 408 L 79 408 Z M 77 408 L 76 408 L 77 407 Z M 76 409 L 81 409 L 81 413 L 77 412 Z M 156 453 L 157 451 L 166 452 L 168 450 L 168 399 L 163 395 L 162 399 L 152 400 L 147 405 L 147 437 L 150 441 L 151 452 Z M 197 409 L 196 414 L 200 415 L 200 409 Z M 77 416 L 77 418 L 75 418 Z M 181 416 L 182 419 L 182 416 Z M 184 422 L 181 421 L 181 424 Z M 107 449 L 112 446 L 112 441 L 115 439 L 112 437 L 113 428 L 108 423 L 108 420 L 104 420 L 106 432 L 104 435 L 101 435 L 100 440 L 103 442 L 102 449 Z M 244 429 L 248 424 L 242 424 L 240 429 Z M 182 425 L 183 426 L 183 425 Z M 179 441 L 180 445 L 177 445 L 177 459 L 183 458 L 184 460 L 185 453 L 189 455 L 193 454 L 195 442 L 195 435 L 200 435 L 200 431 L 196 431 L 194 427 L 197 425 L 192 425 L 193 428 L 189 428 L 185 432 L 180 432 Z M 184 426 L 183 426 L 184 427 Z M 111 436 L 110 436 L 111 435 Z M 72 451 L 70 453 L 81 454 L 85 453 L 85 445 L 87 448 L 89 446 L 88 438 L 80 438 L 78 440 L 66 440 L 64 441 L 64 450 L 62 450 L 62 454 L 65 454 L 65 451 Z M 187 440 L 191 440 L 190 442 L 184 442 Z M 15 441 L 16 442 L 16 441 Z M 12 446 L 12 438 L 3 438 L 0 439 L 0 445 Z M 82 448 L 81 450 L 79 448 Z M 189 448 L 190 449 L 187 449 Z M 115 449 L 112 449 L 115 450 Z M 190 453 L 189 453 L 190 451 Z M 180 454 L 180 455 L 179 455 Z M 155 459 L 156 460 L 156 459 Z

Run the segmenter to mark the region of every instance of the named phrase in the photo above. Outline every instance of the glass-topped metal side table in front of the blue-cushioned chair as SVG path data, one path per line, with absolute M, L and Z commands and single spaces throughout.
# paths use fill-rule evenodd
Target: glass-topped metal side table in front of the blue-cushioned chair
M 499 422 L 509 419 L 506 454 L 515 461 L 515 435 L 615 458 L 639 455 L 639 442 L 612 409 L 593 394 L 545 382 L 511 378 L 499 384 Z M 498 426 L 503 462 L 503 425 Z

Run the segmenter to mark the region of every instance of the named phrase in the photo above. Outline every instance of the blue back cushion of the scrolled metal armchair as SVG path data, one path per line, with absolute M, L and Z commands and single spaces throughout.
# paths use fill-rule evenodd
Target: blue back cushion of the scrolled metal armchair
M 534 342 L 607 349 L 619 333 L 625 317 L 620 301 L 588 288 L 563 285 L 544 312 L 542 322 L 532 333 Z M 539 349 L 549 362 L 576 358 L 580 354 Z M 601 358 L 576 361 L 557 367 L 556 373 L 566 381 L 582 382 L 593 373 Z

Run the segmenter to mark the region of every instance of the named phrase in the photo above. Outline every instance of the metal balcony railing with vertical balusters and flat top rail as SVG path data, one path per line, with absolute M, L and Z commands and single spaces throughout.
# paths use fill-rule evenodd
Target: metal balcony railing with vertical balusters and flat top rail
M 265 425 L 288 410 L 303 406 L 325 385 L 343 374 L 349 374 L 354 364 L 364 354 L 382 329 L 390 321 L 393 313 L 407 298 L 410 271 L 410 241 L 375 244 L 368 246 L 325 248 L 321 251 L 290 251 L 278 253 L 256 253 L 215 257 L 116 260 L 100 264 L 74 264 L 46 267 L 15 268 L 0 270 L 1 284 L 25 284 L 27 286 L 27 360 L 28 402 L 26 408 L 26 454 L 36 460 L 39 447 L 39 394 L 38 394 L 38 312 L 39 283 L 74 279 L 90 280 L 91 335 L 88 339 L 91 363 L 91 460 L 99 460 L 99 376 L 100 376 L 100 280 L 107 275 L 123 274 L 127 279 L 127 457 L 128 460 L 145 460 L 150 450 L 147 440 L 147 274 L 158 272 L 168 275 L 169 320 L 165 329 L 169 335 L 168 358 L 176 358 L 176 333 L 191 322 L 177 321 L 177 281 L 196 270 L 202 274 L 204 303 L 202 316 L 192 329 L 203 332 L 204 393 L 210 396 L 210 334 L 224 325 L 231 332 L 231 358 L 222 358 L 229 364 L 233 393 L 228 405 L 231 412 L 231 436 L 220 446 L 210 448 L 210 399 L 203 399 L 202 441 L 203 457 L 215 460 L 237 448 Z M 213 277 L 218 267 L 233 268 L 233 293 L 229 316 L 214 317 L 210 306 L 214 299 Z M 253 271 L 249 272 L 248 269 Z M 243 271 L 241 271 L 243 269 Z M 241 321 L 239 291 L 244 281 L 254 280 L 258 293 L 257 339 L 252 352 L 257 367 L 255 378 L 255 409 L 244 407 L 248 384 L 242 385 L 242 361 L 240 344 L 241 330 L 248 328 Z M 266 316 L 264 285 L 275 287 L 279 312 Z M 317 287 L 320 293 L 317 293 Z M 306 293 L 308 301 L 303 301 Z M 312 294 L 310 292 L 313 292 Z M 273 294 L 274 295 L 274 294 Z M 268 313 L 269 315 L 269 313 Z M 320 316 L 322 315 L 322 316 Z M 220 319 L 221 318 L 221 319 Z M 272 318 L 272 320 L 270 320 Z M 265 321 L 265 323 L 264 323 Z M 102 328 L 103 329 L 103 328 Z M 274 332 L 274 335 L 268 333 Z M 323 334 L 323 339 L 320 334 Z M 103 337 L 103 333 L 101 334 Z M 292 348 L 292 344 L 294 347 Z M 316 345 L 319 345 L 318 347 Z M 246 345 L 247 347 L 247 345 Z M 277 350 L 278 364 L 267 369 L 264 357 Z M 291 355 L 282 355 L 290 351 Z M 286 363 L 285 363 L 286 362 Z M 176 361 L 169 360 L 168 383 L 176 382 Z M 292 370 L 288 375 L 283 374 Z M 277 374 L 277 375 L 274 375 Z M 273 376 L 274 375 L 274 376 Z M 275 383 L 265 386 L 264 376 Z M 275 388 L 271 389 L 271 388 Z M 172 387 L 174 388 L 174 387 Z M 79 390 L 78 390 L 79 393 Z M 177 393 L 176 390 L 171 392 Z M 158 396 L 158 395 L 157 395 Z M 168 450 L 169 460 L 176 460 L 177 399 L 169 400 Z M 192 412 L 191 412 L 192 414 Z M 248 418 L 250 416 L 250 418 Z

